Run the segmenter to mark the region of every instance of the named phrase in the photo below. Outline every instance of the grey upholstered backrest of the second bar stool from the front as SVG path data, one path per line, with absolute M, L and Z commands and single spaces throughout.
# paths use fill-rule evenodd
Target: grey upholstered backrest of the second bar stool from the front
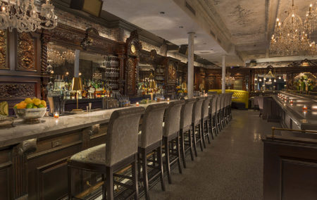
M 142 118 L 142 148 L 147 148 L 162 139 L 163 116 L 167 106 L 166 103 L 147 106 Z

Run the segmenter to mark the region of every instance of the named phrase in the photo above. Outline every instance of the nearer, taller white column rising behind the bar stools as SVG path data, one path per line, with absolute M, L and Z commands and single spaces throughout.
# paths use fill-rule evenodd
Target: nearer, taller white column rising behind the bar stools
M 188 98 L 192 98 L 194 96 L 194 34 L 194 32 L 188 33 Z

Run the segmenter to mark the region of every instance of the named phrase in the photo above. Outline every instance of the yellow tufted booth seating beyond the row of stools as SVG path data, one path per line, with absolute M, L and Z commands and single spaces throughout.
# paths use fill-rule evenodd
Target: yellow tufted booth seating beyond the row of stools
M 209 89 L 208 92 L 218 92 L 218 94 L 221 94 L 221 89 Z M 225 93 L 232 93 L 232 106 L 236 105 L 237 108 L 249 108 L 249 92 L 244 90 L 226 89 Z M 244 106 L 242 106 L 242 104 Z

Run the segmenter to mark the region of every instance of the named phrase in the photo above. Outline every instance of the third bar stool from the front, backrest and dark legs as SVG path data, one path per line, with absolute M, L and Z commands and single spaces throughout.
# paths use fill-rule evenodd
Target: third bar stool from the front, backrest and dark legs
M 182 173 L 182 167 L 180 166 L 180 110 L 185 101 L 172 101 L 166 108 L 164 115 L 164 132 L 163 142 L 165 146 L 165 158 L 166 158 L 166 171 L 168 173 L 168 183 L 172 183 L 170 176 L 170 165 L 178 162 L 178 170 Z M 173 141 L 176 143 L 176 152 L 174 153 Z M 170 149 L 169 142 L 172 144 Z M 171 152 L 170 152 L 171 150 Z M 170 155 L 175 156 L 170 161 Z

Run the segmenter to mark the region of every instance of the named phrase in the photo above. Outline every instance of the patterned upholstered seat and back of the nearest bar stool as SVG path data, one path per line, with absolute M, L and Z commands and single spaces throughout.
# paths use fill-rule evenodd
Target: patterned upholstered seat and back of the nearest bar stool
M 106 135 L 106 144 L 80 151 L 70 160 L 111 166 L 137 153 L 139 119 L 144 108 L 113 111 Z

